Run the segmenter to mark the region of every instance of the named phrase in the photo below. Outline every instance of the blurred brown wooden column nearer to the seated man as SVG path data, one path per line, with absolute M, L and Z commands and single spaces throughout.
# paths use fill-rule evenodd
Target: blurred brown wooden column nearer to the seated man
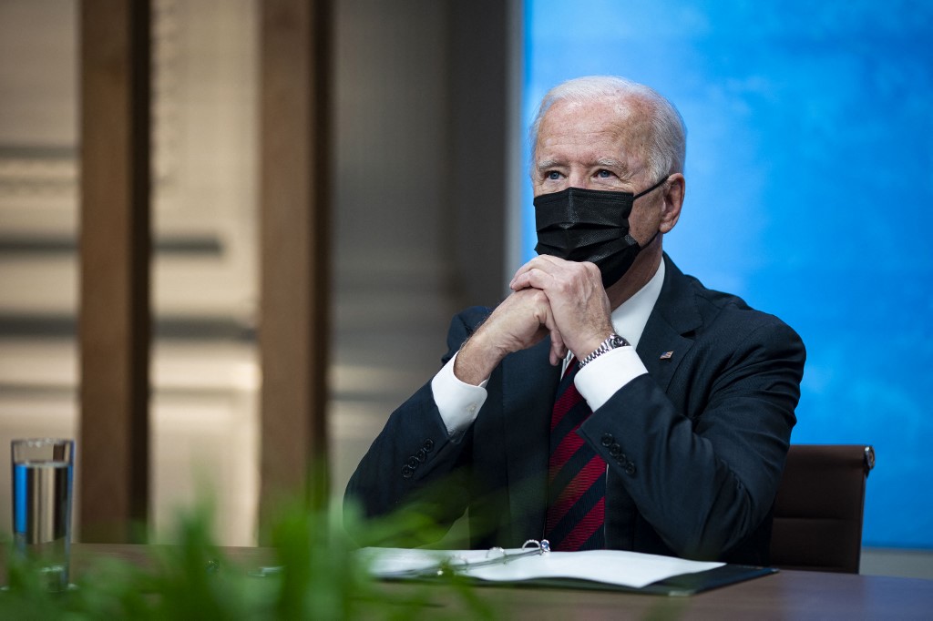
M 327 496 L 329 9 L 261 3 L 263 526 L 285 495 Z

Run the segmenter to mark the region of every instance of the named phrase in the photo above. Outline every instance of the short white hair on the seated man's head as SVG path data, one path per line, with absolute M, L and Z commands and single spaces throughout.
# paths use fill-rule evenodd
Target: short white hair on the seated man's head
M 550 106 L 562 101 L 587 104 L 606 98 L 637 98 L 650 105 L 651 135 L 648 141 L 648 173 L 652 179 L 684 172 L 687 156 L 687 127 L 684 119 L 657 90 L 617 76 L 586 76 L 567 80 L 549 90 L 538 106 L 529 137 L 532 149 L 537 145 L 541 119 Z M 532 165 L 534 170 L 534 164 Z

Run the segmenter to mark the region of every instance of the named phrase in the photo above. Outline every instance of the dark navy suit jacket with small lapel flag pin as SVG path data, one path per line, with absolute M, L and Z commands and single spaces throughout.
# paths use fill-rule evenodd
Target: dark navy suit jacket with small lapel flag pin
M 637 352 L 648 375 L 580 427 L 608 464 L 606 547 L 768 563 L 805 358 L 773 315 L 703 287 L 666 255 Z M 446 363 L 490 310 L 453 318 Z M 392 414 L 346 498 L 367 516 L 427 503 L 444 523 L 468 508 L 470 544 L 516 547 L 544 531 L 550 409 L 560 368 L 546 338 L 508 355 L 477 420 L 448 437 L 430 382 Z

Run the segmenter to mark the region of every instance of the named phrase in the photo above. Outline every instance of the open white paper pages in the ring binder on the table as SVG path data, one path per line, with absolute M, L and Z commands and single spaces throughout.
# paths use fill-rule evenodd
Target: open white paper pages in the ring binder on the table
M 528 550 L 421 550 L 369 547 L 360 551 L 377 577 L 427 576 L 444 566 L 457 573 L 495 582 L 536 578 L 573 578 L 641 588 L 683 573 L 725 563 L 675 559 L 623 550 L 529 553 Z

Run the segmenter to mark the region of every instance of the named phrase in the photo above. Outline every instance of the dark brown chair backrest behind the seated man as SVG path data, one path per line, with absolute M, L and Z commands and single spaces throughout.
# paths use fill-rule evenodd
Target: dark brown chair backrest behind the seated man
M 865 479 L 873 467 L 870 446 L 791 445 L 774 500 L 772 565 L 858 573 Z

